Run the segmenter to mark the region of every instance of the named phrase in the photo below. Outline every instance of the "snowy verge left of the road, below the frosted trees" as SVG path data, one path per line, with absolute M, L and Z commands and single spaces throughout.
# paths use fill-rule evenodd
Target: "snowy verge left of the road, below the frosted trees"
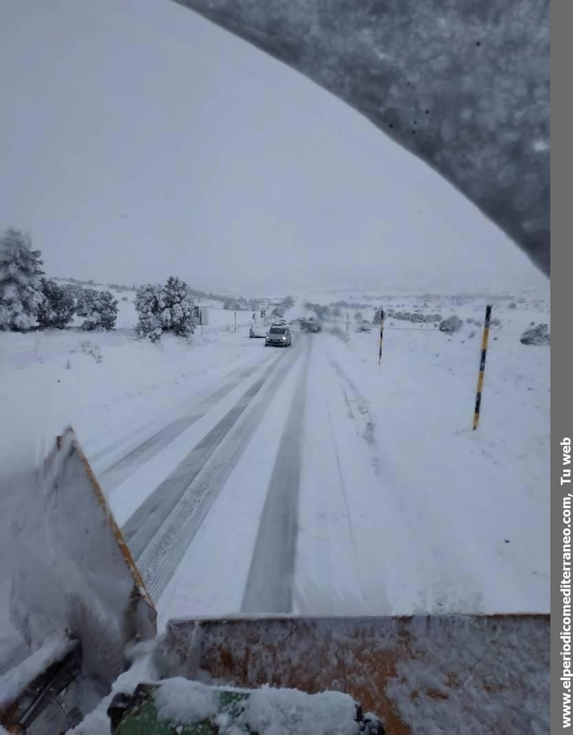
M 143 424 L 162 420 L 181 395 L 198 392 L 249 359 L 251 314 L 209 309 L 209 326 L 190 340 L 138 340 L 131 301 L 120 301 L 118 329 L 0 332 L 0 404 L 11 417 L 0 441 L 4 471 L 29 442 L 41 452 L 71 424 L 88 457 Z M 81 323 L 82 320 L 79 320 Z M 24 433 L 23 433 L 24 432 Z

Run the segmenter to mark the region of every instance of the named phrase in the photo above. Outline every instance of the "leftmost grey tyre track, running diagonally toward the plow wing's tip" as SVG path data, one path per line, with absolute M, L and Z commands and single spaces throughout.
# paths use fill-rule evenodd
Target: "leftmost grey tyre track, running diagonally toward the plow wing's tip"
M 243 380 L 255 373 L 256 370 L 260 370 L 260 368 L 260 363 L 251 365 L 248 368 L 240 368 L 234 372 L 236 375 L 235 379 L 228 381 L 213 392 L 209 393 L 206 398 L 203 398 L 202 401 L 194 406 L 192 413 L 171 421 L 167 426 L 156 431 L 151 437 L 148 437 L 148 439 L 131 449 L 131 451 L 126 453 L 126 455 L 121 459 L 118 459 L 117 462 L 114 462 L 103 472 L 99 473 L 101 484 L 106 492 L 109 493 L 114 490 L 115 487 L 118 487 L 118 485 L 125 481 L 126 478 L 134 474 L 139 467 L 145 465 L 145 462 L 148 462 L 156 454 L 165 449 L 165 447 L 169 446 L 170 443 L 176 440 L 177 437 L 181 436 L 184 431 L 190 429 L 194 423 L 197 423 L 198 420 L 203 418 L 209 409 L 217 404 L 217 401 L 225 398 L 225 396 L 234 390 L 234 388 L 236 388 Z M 105 456 L 109 451 L 110 448 L 107 448 L 96 453 L 93 456 L 93 462 L 97 462 L 101 456 Z

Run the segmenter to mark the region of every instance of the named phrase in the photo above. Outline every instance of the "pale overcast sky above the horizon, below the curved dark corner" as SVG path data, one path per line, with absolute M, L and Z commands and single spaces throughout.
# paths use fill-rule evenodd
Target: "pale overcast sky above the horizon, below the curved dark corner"
M 449 184 L 170 0 L 1 0 L 0 228 L 52 276 L 508 292 L 547 279 Z

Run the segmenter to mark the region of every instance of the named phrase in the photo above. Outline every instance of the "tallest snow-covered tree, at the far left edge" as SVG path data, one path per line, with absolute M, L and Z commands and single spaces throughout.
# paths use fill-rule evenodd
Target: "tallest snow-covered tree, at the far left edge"
M 26 331 L 35 326 L 43 303 L 40 251 L 16 229 L 0 237 L 0 329 Z

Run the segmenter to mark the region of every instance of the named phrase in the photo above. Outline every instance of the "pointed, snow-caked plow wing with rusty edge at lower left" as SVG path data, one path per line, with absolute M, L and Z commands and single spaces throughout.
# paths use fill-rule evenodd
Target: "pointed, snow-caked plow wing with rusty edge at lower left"
M 57 437 L 29 490 L 12 524 L 10 620 L 26 661 L 53 639 L 79 642 L 80 675 L 105 696 L 126 670 L 126 647 L 156 636 L 154 603 L 72 429 Z M 11 689 L 10 701 L 0 697 L 2 724 L 6 708 L 20 711 L 39 691 L 27 681 Z

